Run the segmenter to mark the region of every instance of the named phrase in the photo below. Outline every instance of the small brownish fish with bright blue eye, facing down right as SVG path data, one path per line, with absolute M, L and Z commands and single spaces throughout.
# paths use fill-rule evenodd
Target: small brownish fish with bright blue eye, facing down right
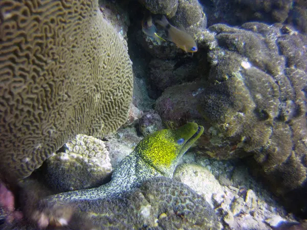
M 191 35 L 183 30 L 180 30 L 169 24 L 166 17 L 163 15 L 161 20 L 156 21 L 160 26 L 164 27 L 168 33 L 168 40 L 174 42 L 177 47 L 184 50 L 185 52 L 196 52 L 198 51 L 196 43 Z

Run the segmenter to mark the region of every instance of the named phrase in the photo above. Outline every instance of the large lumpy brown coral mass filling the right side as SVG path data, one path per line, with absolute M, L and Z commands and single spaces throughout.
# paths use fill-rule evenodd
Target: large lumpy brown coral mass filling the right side
M 276 194 L 284 196 L 300 188 L 307 168 L 301 160 L 307 154 L 302 147 L 307 110 L 306 37 L 290 27 L 285 30 L 282 25 L 258 22 L 248 22 L 242 29 L 220 24 L 210 30 L 217 33 L 223 49 L 209 54 L 212 63 L 218 60 L 212 64 L 210 78 L 219 83 L 199 95 L 202 111 L 235 143 L 234 152 L 254 154 Z M 237 62 L 230 63 L 234 54 Z M 216 96 L 222 91 L 229 95 L 228 106 L 223 106 L 227 109 L 216 120 L 212 114 L 218 110 L 209 108 L 221 105 Z

